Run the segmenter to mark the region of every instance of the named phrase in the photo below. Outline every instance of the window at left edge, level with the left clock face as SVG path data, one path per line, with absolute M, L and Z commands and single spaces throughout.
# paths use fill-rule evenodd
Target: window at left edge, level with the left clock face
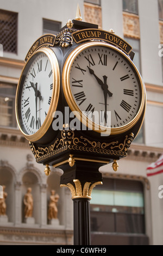
M 16 127 L 15 118 L 16 85 L 0 82 L 0 125 Z

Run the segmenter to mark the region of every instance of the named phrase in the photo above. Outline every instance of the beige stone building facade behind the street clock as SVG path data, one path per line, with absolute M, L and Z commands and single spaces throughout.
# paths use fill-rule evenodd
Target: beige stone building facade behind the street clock
M 1 245 L 72 245 L 73 202 L 60 187 L 62 170 L 50 176 L 37 164 L 18 130 L 15 94 L 29 48 L 46 33 L 57 35 L 79 4 L 84 21 L 112 28 L 133 46 L 134 63 L 147 91 L 143 126 L 128 156 L 100 168 L 103 185 L 92 192 L 92 245 L 162 245 L 163 174 L 146 168 L 163 153 L 163 1 L 162 0 L 0 0 L 0 185 L 5 186 L 6 214 L 0 215 Z M 2 51 L 3 46 L 3 51 Z M 24 218 L 24 196 L 32 188 L 33 215 Z M 55 221 L 48 220 L 51 191 L 59 195 Z M 1 200 L 1 199 L 0 199 Z

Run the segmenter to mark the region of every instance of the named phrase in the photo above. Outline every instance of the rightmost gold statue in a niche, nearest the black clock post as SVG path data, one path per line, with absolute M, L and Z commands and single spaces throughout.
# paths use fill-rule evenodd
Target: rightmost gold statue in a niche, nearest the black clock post
M 55 190 L 51 190 L 51 196 L 48 205 L 48 220 L 52 220 L 53 218 L 57 218 L 58 209 L 57 203 L 59 200 L 59 195 L 55 194 Z

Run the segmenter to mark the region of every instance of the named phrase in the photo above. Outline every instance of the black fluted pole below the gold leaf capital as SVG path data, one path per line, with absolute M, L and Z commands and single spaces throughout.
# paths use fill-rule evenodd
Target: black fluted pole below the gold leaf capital
M 90 245 L 90 199 L 73 199 L 73 214 L 74 245 Z

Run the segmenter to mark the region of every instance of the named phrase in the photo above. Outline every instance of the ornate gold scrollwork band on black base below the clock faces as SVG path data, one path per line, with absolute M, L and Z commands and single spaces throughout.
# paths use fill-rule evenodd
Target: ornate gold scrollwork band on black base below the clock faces
M 72 151 L 76 150 L 104 154 L 106 156 L 112 155 L 123 157 L 127 156 L 127 151 L 131 145 L 131 142 L 134 139 L 134 135 L 133 133 L 131 133 L 129 136 L 126 135 L 123 143 L 119 143 L 118 141 L 101 143 L 97 141 L 91 141 L 90 139 L 87 139 L 83 136 L 80 136 L 79 138 L 75 137 L 74 131 L 66 129 L 68 129 L 68 127 L 64 126 L 64 130 L 61 130 L 61 138 L 57 138 L 56 141 L 48 147 L 38 147 L 36 149 L 35 144 L 29 142 L 30 148 L 32 149 L 32 152 L 37 162 L 48 159 L 48 157 L 57 155 L 67 149 L 70 149 Z

